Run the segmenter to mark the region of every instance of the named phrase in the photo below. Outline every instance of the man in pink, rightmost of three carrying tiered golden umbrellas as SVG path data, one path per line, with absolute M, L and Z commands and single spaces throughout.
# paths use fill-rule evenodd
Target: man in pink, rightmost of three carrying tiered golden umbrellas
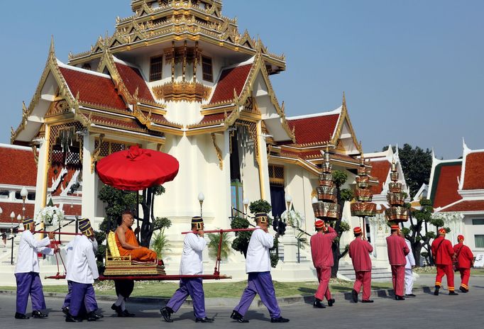
M 404 301 L 403 289 L 405 287 L 405 264 L 407 260 L 405 256 L 410 250 L 407 247 L 405 240 L 398 235 L 400 226 L 392 225 L 392 235 L 387 237 L 388 260 L 392 267 L 392 283 L 395 291 L 395 299 L 397 301 Z

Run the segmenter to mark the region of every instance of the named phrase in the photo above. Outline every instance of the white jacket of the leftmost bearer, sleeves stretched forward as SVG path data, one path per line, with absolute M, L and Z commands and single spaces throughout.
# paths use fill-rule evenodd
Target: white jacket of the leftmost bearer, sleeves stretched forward
M 18 245 L 15 273 L 40 273 L 37 253 L 41 252 L 44 255 L 54 255 L 54 250 L 47 247 L 49 244 L 49 238 L 36 240 L 30 230 L 23 231 L 20 244 Z

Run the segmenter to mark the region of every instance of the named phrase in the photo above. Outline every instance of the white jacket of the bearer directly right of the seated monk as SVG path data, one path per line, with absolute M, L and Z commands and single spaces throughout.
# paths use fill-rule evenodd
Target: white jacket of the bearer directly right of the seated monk
M 197 233 L 185 235 L 182 260 L 180 261 L 180 275 L 203 274 L 202 252 L 205 245 L 207 245 L 207 241 Z

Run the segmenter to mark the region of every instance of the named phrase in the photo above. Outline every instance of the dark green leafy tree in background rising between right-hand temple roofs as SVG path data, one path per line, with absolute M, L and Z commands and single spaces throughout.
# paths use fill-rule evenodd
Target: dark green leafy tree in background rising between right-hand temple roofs
M 388 147 L 383 147 L 383 151 L 386 150 L 388 150 Z M 395 152 L 395 147 L 393 147 L 393 151 Z M 414 196 L 422 184 L 429 184 L 432 153 L 428 148 L 423 150 L 418 146 L 413 148 L 412 145 L 404 144 L 403 147 L 398 147 L 398 156 L 402 163 L 402 170 L 410 189 L 410 195 Z

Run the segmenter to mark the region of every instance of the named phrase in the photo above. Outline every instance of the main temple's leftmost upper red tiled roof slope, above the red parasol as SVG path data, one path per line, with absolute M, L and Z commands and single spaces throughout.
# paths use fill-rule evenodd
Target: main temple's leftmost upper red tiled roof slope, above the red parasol
M 79 101 L 126 110 L 126 104 L 118 95 L 111 79 L 67 67 L 59 69 L 72 95 L 76 97 L 79 92 Z

